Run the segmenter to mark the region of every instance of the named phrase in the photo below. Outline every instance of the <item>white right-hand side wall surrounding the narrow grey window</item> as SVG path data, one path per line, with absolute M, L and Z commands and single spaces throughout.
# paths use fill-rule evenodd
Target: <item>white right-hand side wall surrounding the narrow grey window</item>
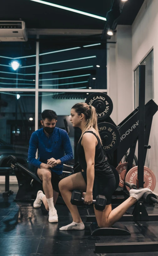
M 154 99 L 158 104 L 158 1 L 145 0 L 132 25 L 132 69 L 154 49 Z M 156 176 L 154 192 L 158 194 L 158 112 L 154 115 L 145 165 Z

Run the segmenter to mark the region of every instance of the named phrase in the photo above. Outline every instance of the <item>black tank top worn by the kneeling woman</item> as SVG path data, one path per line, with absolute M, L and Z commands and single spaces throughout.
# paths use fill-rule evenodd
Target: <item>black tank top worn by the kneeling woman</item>
M 97 138 L 98 144 L 95 147 L 95 175 L 100 177 L 114 177 L 114 173 L 112 172 L 112 169 L 107 161 L 107 156 L 104 153 L 104 150 L 102 148 L 100 139 L 93 131 L 86 131 L 93 133 L 93 135 Z M 84 133 L 86 133 L 84 132 Z M 87 171 L 87 163 L 85 160 L 85 154 L 84 154 L 84 148 L 81 145 L 82 138 L 79 140 L 79 143 L 77 144 L 77 155 L 78 155 L 78 161 L 84 172 Z

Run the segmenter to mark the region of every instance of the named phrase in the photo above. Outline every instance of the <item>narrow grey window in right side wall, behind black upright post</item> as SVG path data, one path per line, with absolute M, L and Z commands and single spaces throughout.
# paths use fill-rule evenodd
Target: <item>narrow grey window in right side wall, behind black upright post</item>
M 145 65 L 145 103 L 154 99 L 154 55 L 153 50 L 140 63 Z M 139 67 L 134 71 L 135 107 L 139 105 Z

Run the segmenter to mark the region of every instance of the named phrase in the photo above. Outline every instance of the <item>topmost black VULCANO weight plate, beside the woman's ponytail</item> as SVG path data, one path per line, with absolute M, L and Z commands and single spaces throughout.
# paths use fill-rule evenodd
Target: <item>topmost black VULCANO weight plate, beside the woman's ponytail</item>
M 111 98 L 104 92 L 94 92 L 87 97 L 85 103 L 95 107 L 98 120 L 109 117 L 113 110 Z

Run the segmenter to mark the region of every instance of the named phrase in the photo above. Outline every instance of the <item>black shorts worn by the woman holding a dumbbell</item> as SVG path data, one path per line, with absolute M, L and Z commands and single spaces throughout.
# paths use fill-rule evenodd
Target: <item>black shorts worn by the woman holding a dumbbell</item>
M 86 172 L 81 172 L 85 183 L 87 184 L 87 174 Z M 115 191 L 115 177 L 106 178 L 94 176 L 94 185 L 93 185 L 93 199 L 95 200 L 97 195 L 105 195 L 106 205 L 111 204 L 112 194 Z

